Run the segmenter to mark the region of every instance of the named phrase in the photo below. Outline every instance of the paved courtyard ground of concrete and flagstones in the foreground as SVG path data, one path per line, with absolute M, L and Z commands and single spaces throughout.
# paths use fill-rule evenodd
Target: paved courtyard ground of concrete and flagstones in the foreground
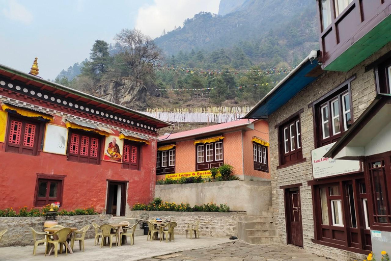
M 54 255 L 44 256 L 44 247 L 38 246 L 37 255 L 33 256 L 33 246 L 0 247 L 0 260 L 49 260 Z M 174 242 L 146 241 L 146 237 L 136 237 L 135 245 L 121 247 L 94 246 L 94 240 L 86 240 L 86 251 L 58 255 L 54 260 L 143 260 L 143 261 L 326 261 L 324 257 L 306 253 L 304 250 L 286 245 L 249 245 L 240 241 L 221 238 L 186 239 L 176 236 Z M 328 259 L 329 260 L 329 259 Z

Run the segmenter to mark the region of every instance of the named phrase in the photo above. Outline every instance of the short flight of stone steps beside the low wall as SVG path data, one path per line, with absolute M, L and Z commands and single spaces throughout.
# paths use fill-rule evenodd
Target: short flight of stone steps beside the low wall
M 250 244 L 278 244 L 280 239 L 274 229 L 271 211 L 262 211 L 261 216 L 238 216 L 238 238 Z

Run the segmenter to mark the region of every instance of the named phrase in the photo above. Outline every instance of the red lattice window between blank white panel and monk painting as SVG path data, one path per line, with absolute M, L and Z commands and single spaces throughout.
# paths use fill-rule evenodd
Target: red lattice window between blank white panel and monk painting
M 68 161 L 100 164 L 102 136 L 69 128 Z

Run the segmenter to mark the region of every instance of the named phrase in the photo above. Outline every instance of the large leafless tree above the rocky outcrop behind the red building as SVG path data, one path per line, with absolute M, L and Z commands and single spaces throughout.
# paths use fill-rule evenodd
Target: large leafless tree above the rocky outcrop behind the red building
M 143 80 L 153 73 L 153 66 L 162 60 L 162 50 L 149 37 L 137 29 L 123 29 L 115 40 L 121 46 L 118 54 L 129 66 L 130 75 Z

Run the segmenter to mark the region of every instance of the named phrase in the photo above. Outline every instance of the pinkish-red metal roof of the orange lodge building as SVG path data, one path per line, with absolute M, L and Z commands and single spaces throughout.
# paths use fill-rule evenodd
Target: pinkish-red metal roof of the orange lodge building
M 220 123 L 216 125 L 211 125 L 203 128 L 196 128 L 196 129 L 191 129 L 190 131 L 186 132 L 180 132 L 180 133 L 174 133 L 171 135 L 165 135 L 165 136 L 160 136 L 159 140 L 175 140 L 175 139 L 180 139 L 180 138 L 185 138 L 185 137 L 191 137 L 191 136 L 197 136 L 197 135 L 204 135 L 208 133 L 213 133 L 213 132 L 218 132 L 218 131 L 226 131 L 227 129 L 231 128 L 236 128 L 240 126 L 246 126 L 249 124 L 252 124 L 254 119 L 240 119 L 240 120 L 235 120 L 227 123 Z

